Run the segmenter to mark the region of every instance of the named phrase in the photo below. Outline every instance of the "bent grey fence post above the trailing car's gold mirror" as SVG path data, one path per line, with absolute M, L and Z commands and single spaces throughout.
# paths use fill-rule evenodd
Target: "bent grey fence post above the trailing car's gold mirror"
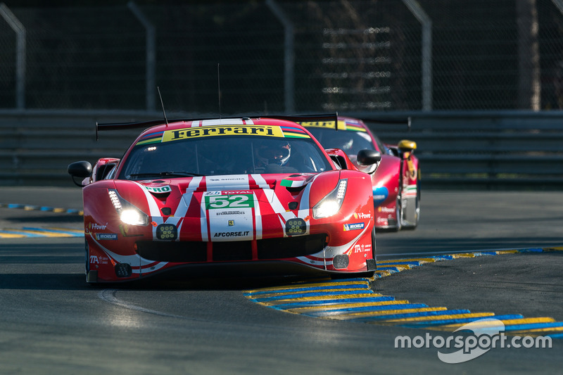
M 432 20 L 416 0 L 403 3 L 422 24 L 422 110 L 432 110 Z

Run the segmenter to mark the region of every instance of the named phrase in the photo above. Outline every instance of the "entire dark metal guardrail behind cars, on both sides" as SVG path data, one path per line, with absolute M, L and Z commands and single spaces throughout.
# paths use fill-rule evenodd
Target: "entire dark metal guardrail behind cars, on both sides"
M 393 144 L 417 142 L 424 189 L 560 189 L 563 187 L 563 113 L 352 113 L 400 125 L 367 124 Z M 138 130 L 103 132 L 94 124 L 154 120 L 161 113 L 0 112 L 0 184 L 68 186 L 76 160 L 120 158 Z M 176 117 L 186 116 L 185 114 Z M 169 115 L 168 117 L 171 117 Z M 189 117 L 189 116 L 188 116 Z M 205 117 L 196 115 L 194 117 Z

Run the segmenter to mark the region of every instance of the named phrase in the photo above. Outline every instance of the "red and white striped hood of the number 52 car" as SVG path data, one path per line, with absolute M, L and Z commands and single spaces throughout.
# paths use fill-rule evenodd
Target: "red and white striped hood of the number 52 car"
M 310 202 L 324 196 L 324 190 L 334 189 L 338 179 L 339 171 L 334 171 L 115 183 L 120 196 L 146 212 L 154 227 L 187 226 L 191 236 L 203 241 L 243 241 L 283 236 L 287 220 L 309 217 Z M 322 181 L 317 184 L 317 180 Z M 311 189 L 313 185 L 318 189 Z

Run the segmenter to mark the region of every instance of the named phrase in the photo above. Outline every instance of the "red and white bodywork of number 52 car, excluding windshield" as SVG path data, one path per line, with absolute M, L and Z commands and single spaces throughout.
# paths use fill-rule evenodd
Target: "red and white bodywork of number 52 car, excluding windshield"
M 148 145 L 153 148 L 170 142 L 166 135 L 155 141 L 151 134 L 188 134 L 194 128 L 218 134 L 217 129 L 242 132 L 244 127 L 281 129 L 277 136 L 288 141 L 299 132 L 320 150 L 327 170 L 122 177 L 127 158 L 145 147 L 144 139 L 153 139 Z M 331 152 L 339 153 L 346 157 L 343 151 Z M 284 120 L 171 122 L 146 129 L 122 160 L 102 158 L 84 179 L 87 281 L 127 281 L 171 269 L 186 275 L 204 269 L 209 274 L 225 266 L 284 274 L 372 272 L 372 182 L 346 160 L 348 170 L 336 167 L 306 129 Z M 338 212 L 315 217 L 315 205 L 342 184 L 346 193 Z M 128 208 L 146 215 L 146 224 L 126 224 L 122 213 Z

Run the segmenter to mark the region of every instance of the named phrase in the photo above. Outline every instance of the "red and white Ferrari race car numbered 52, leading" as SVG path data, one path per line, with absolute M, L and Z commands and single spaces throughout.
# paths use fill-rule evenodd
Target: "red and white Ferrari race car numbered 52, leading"
M 309 117 L 286 118 L 96 124 L 148 129 L 121 159 L 68 166 L 83 179 L 87 282 L 172 269 L 373 274 L 369 175 L 293 122 Z

